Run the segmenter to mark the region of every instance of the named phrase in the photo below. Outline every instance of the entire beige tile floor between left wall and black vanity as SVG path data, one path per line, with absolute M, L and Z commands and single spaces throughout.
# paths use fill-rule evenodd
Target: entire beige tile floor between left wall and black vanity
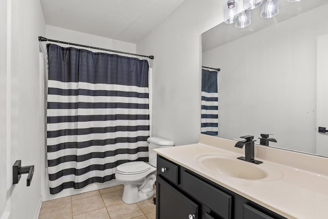
M 120 185 L 46 201 L 42 203 L 39 219 L 156 218 L 153 198 L 128 205 L 122 202 L 122 194 Z

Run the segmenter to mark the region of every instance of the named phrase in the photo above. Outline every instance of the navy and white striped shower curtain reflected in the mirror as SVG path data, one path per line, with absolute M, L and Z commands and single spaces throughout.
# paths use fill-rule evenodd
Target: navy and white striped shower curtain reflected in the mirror
M 201 70 L 202 134 L 218 135 L 217 71 Z

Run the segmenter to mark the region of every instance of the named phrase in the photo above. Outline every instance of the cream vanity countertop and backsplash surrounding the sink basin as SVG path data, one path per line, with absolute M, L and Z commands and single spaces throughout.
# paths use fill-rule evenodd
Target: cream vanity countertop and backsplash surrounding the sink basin
M 206 138 L 206 141 L 202 141 L 204 138 Z M 322 162 L 327 162 L 328 164 L 328 158 L 324 158 L 327 160 L 325 161 L 322 160 L 322 157 L 315 157 L 313 155 L 272 148 L 266 149 L 265 147 L 260 147 L 260 149 L 258 149 L 258 146 L 256 146 L 255 150 L 258 151 L 255 153 L 255 158 L 256 160 L 263 161 L 263 164 L 257 166 L 266 170 L 270 177 L 264 178 L 263 180 L 244 180 L 220 173 L 214 173 L 199 164 L 196 156 L 204 153 L 223 153 L 229 154 L 229 156 L 235 156 L 236 158 L 244 155 L 244 150 L 234 147 L 236 141 L 228 141 L 215 137 L 215 139 L 213 138 L 216 144 L 215 146 L 202 143 L 211 142 L 212 139 L 210 138 L 213 138 L 213 136 L 202 135 L 200 137 L 200 143 L 198 144 L 160 148 L 154 151 L 172 162 L 188 168 L 287 218 L 328 218 L 328 215 L 326 215 L 328 208 L 328 176 L 322 174 L 322 171 L 313 172 L 298 168 L 298 166 L 302 167 L 302 164 L 304 162 L 307 163 L 309 160 L 312 161 L 313 164 L 308 164 L 308 166 L 321 165 Z M 224 145 L 221 145 L 221 147 L 220 144 Z M 229 145 L 229 147 L 227 145 Z M 229 150 L 227 150 L 227 148 Z M 285 162 L 288 163 L 288 165 L 286 165 L 283 164 L 283 162 L 275 163 L 273 161 L 268 161 L 273 160 L 274 157 L 270 157 L 270 155 L 263 153 L 263 150 L 278 150 L 273 154 L 278 154 L 280 157 L 292 157 L 295 162 L 289 160 Z M 239 153 L 237 151 L 239 151 Z M 293 154 L 291 155 L 291 153 Z M 257 154 L 259 157 L 256 156 Z M 265 156 L 263 154 L 265 154 Z M 262 159 L 262 157 L 267 157 L 268 160 Z M 308 159 L 303 160 L 304 157 Z M 319 162 L 316 162 L 316 158 Z M 328 166 L 325 166 L 325 168 L 328 169 Z M 312 170 L 315 169 L 315 167 L 309 167 L 309 169 Z

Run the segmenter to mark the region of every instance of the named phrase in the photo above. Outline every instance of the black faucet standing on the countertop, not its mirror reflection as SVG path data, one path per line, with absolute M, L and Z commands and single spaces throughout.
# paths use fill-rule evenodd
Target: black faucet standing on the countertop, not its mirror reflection
M 254 160 L 254 142 L 256 142 L 253 135 L 241 136 L 245 140 L 236 143 L 235 147 L 243 148 L 245 146 L 245 156 L 237 157 L 240 160 L 251 162 L 254 164 L 261 164 L 263 162 Z

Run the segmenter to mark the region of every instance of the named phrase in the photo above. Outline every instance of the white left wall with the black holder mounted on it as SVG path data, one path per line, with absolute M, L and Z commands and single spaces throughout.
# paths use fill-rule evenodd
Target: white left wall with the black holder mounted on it
M 7 198 L 11 198 L 10 218 L 35 218 L 41 202 L 40 153 L 45 145 L 40 141 L 44 132 L 40 127 L 38 35 L 45 34 L 46 25 L 38 0 L 12 0 L 8 11 L 9 68 L 8 89 L 10 109 L 10 153 L 12 165 L 22 160 L 22 166 L 35 165 L 31 186 L 26 186 L 27 174 L 16 185 L 10 185 Z M 10 43 L 11 42 L 11 43 Z M 8 91 L 8 90 L 7 90 Z M 9 180 L 12 182 L 12 167 Z

